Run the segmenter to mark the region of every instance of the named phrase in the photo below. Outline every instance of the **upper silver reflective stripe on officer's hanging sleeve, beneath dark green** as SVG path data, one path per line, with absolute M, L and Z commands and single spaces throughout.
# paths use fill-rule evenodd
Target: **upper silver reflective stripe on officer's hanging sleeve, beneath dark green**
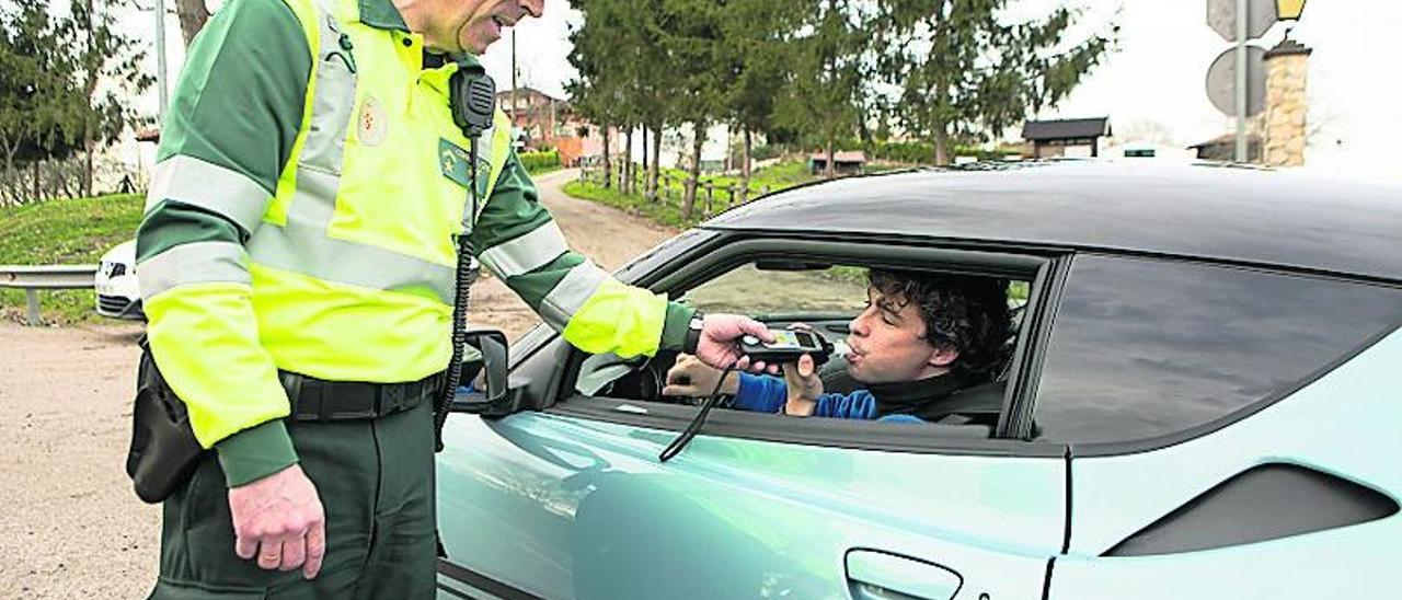
M 165 199 L 213 212 L 244 231 L 252 231 L 262 221 L 272 192 L 231 168 L 177 154 L 151 170 L 146 209 Z

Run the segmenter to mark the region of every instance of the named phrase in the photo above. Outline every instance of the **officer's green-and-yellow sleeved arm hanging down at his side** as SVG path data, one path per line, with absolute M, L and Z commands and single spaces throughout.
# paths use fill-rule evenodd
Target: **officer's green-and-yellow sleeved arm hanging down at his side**
M 310 73 L 307 32 L 287 4 L 226 3 L 191 46 L 137 231 L 151 352 L 230 486 L 297 460 L 243 244 L 292 154 Z

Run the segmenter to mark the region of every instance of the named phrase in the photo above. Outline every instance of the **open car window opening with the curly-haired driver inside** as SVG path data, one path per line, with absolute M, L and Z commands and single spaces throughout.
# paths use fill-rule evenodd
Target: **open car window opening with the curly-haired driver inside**
M 824 398 L 817 401 L 816 416 L 994 425 L 1028 282 L 958 271 L 875 272 L 882 275 L 873 276 L 862 265 L 758 259 L 695 283 L 676 300 L 704 313 L 750 315 L 771 329 L 802 322 L 831 342 L 836 352 L 817 371 Z M 890 297 L 883 297 L 880 289 Z M 931 311 L 944 313 L 934 317 Z M 931 321 L 939 321 L 938 331 L 925 327 Z M 986 334 L 970 341 L 967 331 Z M 931 359 L 920 356 L 923 349 L 955 343 L 955 338 L 958 343 L 973 343 L 958 360 L 977 369 L 963 371 L 965 363 L 951 366 L 956 360 L 952 357 L 930 366 Z M 848 341 L 862 355 L 865 370 L 854 369 L 844 356 L 854 350 Z M 906 355 L 892 356 L 887 348 Z M 575 391 L 586 398 L 695 405 L 718 388 L 716 370 L 694 359 L 677 360 L 676 352 L 666 350 L 638 359 L 590 356 L 580 364 Z M 868 386 L 872 381 L 908 386 L 878 390 Z M 778 377 L 732 373 L 719 386 L 726 397 L 718 408 L 775 414 L 785 388 Z M 974 390 L 977 394 L 972 394 Z M 939 407 L 934 407 L 935 401 Z M 946 421 L 951 416 L 960 419 Z

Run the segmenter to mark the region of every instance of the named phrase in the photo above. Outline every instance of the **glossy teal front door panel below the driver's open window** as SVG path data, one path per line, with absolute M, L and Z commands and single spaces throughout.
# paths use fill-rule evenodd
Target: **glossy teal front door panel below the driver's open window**
M 551 599 L 844 599 L 847 554 L 871 550 L 955 572 L 970 597 L 1028 597 L 1064 540 L 1063 458 L 701 435 L 659 463 L 676 435 L 550 414 L 450 418 L 449 561 Z M 886 583 L 921 585 L 906 575 Z

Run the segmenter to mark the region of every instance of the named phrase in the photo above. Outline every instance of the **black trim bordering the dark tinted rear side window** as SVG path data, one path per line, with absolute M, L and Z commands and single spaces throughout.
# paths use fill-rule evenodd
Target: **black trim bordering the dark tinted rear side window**
M 1175 265 L 1183 265 L 1183 264 L 1186 264 L 1186 265 L 1213 266 L 1213 268 L 1232 269 L 1232 271 L 1248 271 L 1248 272 L 1258 272 L 1258 273 L 1272 273 L 1272 275 L 1281 275 L 1281 276 L 1291 276 L 1291 278 L 1336 280 L 1336 282 L 1345 282 L 1345 283 L 1350 283 L 1350 285 L 1366 285 L 1366 286 L 1374 286 L 1374 287 L 1402 289 L 1402 286 L 1398 286 L 1396 282 L 1380 282 L 1377 279 L 1370 279 L 1370 278 L 1356 278 L 1356 276 L 1347 276 L 1347 275 L 1330 273 L 1330 272 L 1301 271 L 1301 269 L 1294 269 L 1294 268 L 1288 268 L 1288 266 L 1270 268 L 1267 265 L 1258 265 L 1258 264 L 1241 264 L 1241 262 L 1231 262 L 1231 261 L 1214 261 L 1214 259 L 1207 259 L 1207 258 L 1202 258 L 1202 257 L 1147 255 L 1144 252 L 1119 252 L 1119 251 L 1110 251 L 1110 250 L 1082 251 L 1082 252 L 1077 252 L 1077 257 L 1098 257 L 1098 258 L 1109 258 L 1109 259 L 1164 262 L 1164 264 L 1175 264 Z M 1067 259 L 1067 264 L 1066 264 L 1067 272 L 1061 273 L 1061 276 L 1056 279 L 1059 285 L 1066 285 L 1067 283 L 1070 264 L 1073 261 L 1074 261 L 1074 257 L 1071 257 L 1070 259 Z M 1050 322 L 1046 324 L 1046 325 L 1050 325 Z M 1392 335 L 1399 328 L 1402 328 L 1402 320 L 1398 320 L 1396 322 L 1392 322 L 1391 325 L 1384 327 L 1382 331 L 1378 331 L 1378 332 L 1370 335 L 1361 343 L 1359 343 L 1356 348 L 1353 348 L 1349 352 L 1345 352 L 1343 355 L 1335 357 L 1333 360 L 1322 364 L 1321 367 L 1318 367 L 1314 371 L 1305 374 L 1304 377 L 1295 380 L 1294 383 L 1281 387 L 1276 393 L 1273 393 L 1273 394 L 1270 394 L 1270 395 L 1267 395 L 1265 398 L 1260 398 L 1260 400 L 1258 400 L 1255 402 L 1246 404 L 1246 405 L 1244 405 L 1244 407 L 1241 407 L 1241 408 L 1238 408 L 1235 411 L 1231 411 L 1231 412 L 1228 412 L 1228 414 L 1225 414 L 1223 416 L 1218 416 L 1218 418 L 1216 418 L 1213 421 L 1207 421 L 1204 423 L 1199 423 L 1199 425 L 1195 425 L 1195 426 L 1187 428 L 1187 429 L 1180 429 L 1180 430 L 1176 430 L 1176 432 L 1172 432 L 1172 433 L 1164 433 L 1164 435 L 1159 435 L 1159 436 L 1141 437 L 1141 439 L 1126 440 L 1126 442 L 1082 442 L 1082 443 L 1078 443 L 1078 442 L 1052 442 L 1052 440 L 1043 440 L 1043 442 L 1044 443 L 1061 443 L 1061 444 L 1066 444 L 1067 449 L 1068 449 L 1068 451 L 1070 451 L 1068 458 L 1092 458 L 1092 457 L 1116 457 L 1116 456 L 1141 454 L 1141 453 L 1148 453 L 1148 451 L 1155 451 L 1155 450 L 1162 450 L 1162 449 L 1168 449 L 1168 447 L 1172 447 L 1172 446 L 1178 446 L 1178 444 L 1185 443 L 1185 442 L 1192 442 L 1195 439 L 1204 437 L 1204 436 L 1216 433 L 1216 432 L 1218 432 L 1221 429 L 1225 429 L 1227 426 L 1230 426 L 1232 423 L 1237 423 L 1238 421 L 1244 421 L 1244 419 L 1246 419 L 1246 418 L 1249 418 L 1249 416 L 1252 416 L 1252 415 L 1255 415 L 1255 414 L 1258 414 L 1258 412 L 1260 412 L 1260 411 L 1272 407 L 1273 404 L 1280 402 L 1281 400 L 1286 400 L 1286 398 L 1294 395 L 1297 391 L 1304 390 L 1305 387 L 1314 384 L 1315 381 L 1318 381 L 1323 376 L 1332 373 L 1335 369 L 1339 369 L 1340 366 L 1343 366 L 1345 363 L 1353 360 L 1354 357 L 1357 357 L 1363 352 L 1367 352 L 1370 348 L 1373 348 L 1374 345 L 1377 345 L 1378 342 L 1381 342 L 1388 335 Z M 1047 327 L 1047 328 L 1044 328 L 1042 331 L 1046 335 L 1050 335 L 1052 328 Z M 1043 339 L 1043 343 L 1039 345 L 1039 346 L 1036 346 L 1036 348 L 1037 349 L 1044 349 L 1046 348 L 1044 342 L 1046 342 L 1046 339 Z M 1039 366 L 1040 366 L 1040 363 L 1039 363 Z M 1039 374 L 1039 379 L 1040 379 L 1040 374 Z M 1039 398 L 1036 395 L 1036 390 L 1032 390 L 1032 393 L 1033 394 L 1030 397 L 1025 397 L 1028 400 L 1028 408 L 1026 408 L 1026 411 L 1019 412 L 1021 415 L 1026 415 L 1029 418 L 1029 421 L 1032 419 L 1033 415 L 1036 415 L 1036 402 L 1039 401 Z

